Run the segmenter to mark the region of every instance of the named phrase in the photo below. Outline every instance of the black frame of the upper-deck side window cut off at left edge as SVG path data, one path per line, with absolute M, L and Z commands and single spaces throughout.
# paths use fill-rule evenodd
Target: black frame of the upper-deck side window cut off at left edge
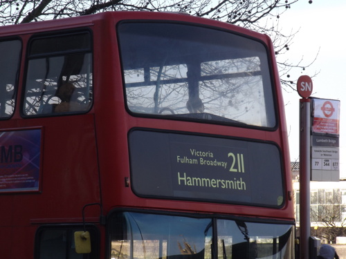
M 18 95 L 18 92 L 19 92 L 19 78 L 20 78 L 20 75 L 21 75 L 21 64 L 22 64 L 22 59 L 23 59 L 23 39 L 19 36 L 10 36 L 10 37 L 1 37 L 0 38 L 0 42 L 3 42 L 3 41 L 19 41 L 20 43 L 20 50 L 19 50 L 19 60 L 18 60 L 18 67 L 17 67 L 17 75 L 15 76 L 15 93 L 13 93 L 13 99 L 14 99 L 14 106 L 13 106 L 13 111 L 11 113 L 10 116 L 5 116 L 5 117 L 0 117 L 0 121 L 4 121 L 6 119 L 11 119 L 13 117 L 13 115 L 15 115 L 15 112 L 16 112 L 16 109 L 17 109 L 17 104 L 18 104 L 18 100 L 17 100 L 17 95 Z M 19 105 L 20 106 L 20 105 Z

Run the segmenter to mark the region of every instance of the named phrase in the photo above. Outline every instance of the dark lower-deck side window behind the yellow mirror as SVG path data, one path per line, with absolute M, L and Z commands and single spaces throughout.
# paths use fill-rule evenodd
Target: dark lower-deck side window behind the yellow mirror
M 35 237 L 35 259 L 94 259 L 98 258 L 98 231 L 87 227 L 91 238 L 91 253 L 75 251 L 75 231 L 83 231 L 79 226 L 41 227 Z

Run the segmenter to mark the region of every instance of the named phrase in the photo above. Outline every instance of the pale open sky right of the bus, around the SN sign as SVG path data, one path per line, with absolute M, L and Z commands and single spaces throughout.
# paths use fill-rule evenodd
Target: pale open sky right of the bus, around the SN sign
M 345 10 L 346 1 L 343 0 L 313 0 L 311 4 L 309 0 L 299 0 L 279 19 L 282 32 L 289 34 L 291 30 L 299 30 L 286 53 L 290 61 L 299 61 L 303 57 L 302 64 L 309 64 L 317 55 L 309 68 L 295 73 L 295 78 L 300 75 L 312 77 L 318 73 L 312 78 L 311 96 L 340 100 L 341 178 L 346 178 L 346 81 L 343 81 L 346 74 Z M 291 161 L 298 161 L 300 96 L 293 90 L 283 90 L 283 93 Z

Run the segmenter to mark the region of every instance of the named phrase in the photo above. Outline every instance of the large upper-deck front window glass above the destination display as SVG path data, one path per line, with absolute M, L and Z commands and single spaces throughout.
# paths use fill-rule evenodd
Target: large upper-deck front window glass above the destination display
M 266 48 L 221 30 L 120 23 L 120 55 L 132 113 L 274 127 Z

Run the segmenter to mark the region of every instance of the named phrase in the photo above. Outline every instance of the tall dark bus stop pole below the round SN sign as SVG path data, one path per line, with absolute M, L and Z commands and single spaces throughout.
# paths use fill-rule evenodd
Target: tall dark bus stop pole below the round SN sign
M 310 238 L 310 99 L 300 99 L 300 259 L 309 259 Z

